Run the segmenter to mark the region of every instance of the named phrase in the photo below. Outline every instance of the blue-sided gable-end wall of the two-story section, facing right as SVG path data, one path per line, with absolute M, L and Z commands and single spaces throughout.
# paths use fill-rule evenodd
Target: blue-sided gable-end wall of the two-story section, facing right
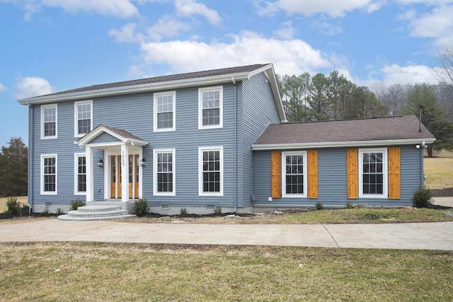
M 253 197 L 253 151 L 251 145 L 263 134 L 269 124 L 280 123 L 270 83 L 265 74 L 260 73 L 243 82 L 242 107 L 239 112 L 238 194 L 241 207 L 251 205 Z

